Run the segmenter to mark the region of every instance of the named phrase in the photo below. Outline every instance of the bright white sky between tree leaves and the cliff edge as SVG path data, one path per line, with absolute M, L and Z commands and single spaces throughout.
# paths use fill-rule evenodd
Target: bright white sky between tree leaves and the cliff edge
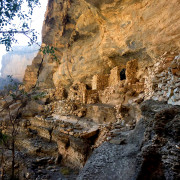
M 42 30 L 42 24 L 44 20 L 44 14 L 46 11 L 47 2 L 48 0 L 40 0 L 41 6 L 36 7 L 32 15 L 31 28 L 35 29 L 39 33 L 38 42 L 41 41 L 41 30 Z M 28 45 L 28 38 L 26 38 L 25 36 L 16 35 L 16 37 L 18 39 L 18 44 L 15 45 L 17 46 Z M 6 53 L 5 47 L 3 45 L 0 45 L 0 69 L 1 69 L 1 58 L 5 53 Z

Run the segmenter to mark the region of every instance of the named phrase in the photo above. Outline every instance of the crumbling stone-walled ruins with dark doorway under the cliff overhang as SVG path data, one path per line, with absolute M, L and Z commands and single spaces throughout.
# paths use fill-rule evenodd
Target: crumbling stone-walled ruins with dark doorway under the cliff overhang
M 96 74 L 92 77 L 92 88 L 84 83 L 75 83 L 67 99 L 78 104 L 74 115 L 79 117 L 94 117 L 96 122 L 102 122 L 102 106 L 111 106 L 114 110 L 109 113 L 115 114 L 111 122 L 120 120 L 133 124 L 141 118 L 137 107 L 143 100 L 152 98 L 179 105 L 179 83 L 179 56 L 167 53 L 148 69 L 139 68 L 138 60 L 134 59 L 124 67 L 114 67 L 110 74 Z

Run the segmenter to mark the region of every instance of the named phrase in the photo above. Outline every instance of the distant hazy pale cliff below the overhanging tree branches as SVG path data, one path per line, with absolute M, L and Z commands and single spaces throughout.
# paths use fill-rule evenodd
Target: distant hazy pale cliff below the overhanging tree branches
M 32 63 L 39 47 L 34 46 L 15 46 L 12 51 L 2 57 L 1 76 L 6 78 L 12 75 L 14 79 L 23 80 L 27 65 Z

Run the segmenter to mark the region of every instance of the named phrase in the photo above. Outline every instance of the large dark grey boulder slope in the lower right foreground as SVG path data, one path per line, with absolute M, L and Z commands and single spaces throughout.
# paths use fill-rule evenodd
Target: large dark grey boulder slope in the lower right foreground
M 135 129 L 96 149 L 77 179 L 179 179 L 180 107 L 146 101 L 141 109 Z

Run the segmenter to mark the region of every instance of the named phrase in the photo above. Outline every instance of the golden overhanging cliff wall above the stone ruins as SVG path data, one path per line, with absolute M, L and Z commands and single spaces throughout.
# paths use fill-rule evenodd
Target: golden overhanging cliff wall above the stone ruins
M 179 8 L 178 0 L 50 0 L 43 42 L 57 47 L 60 64 L 46 58 L 39 84 L 90 84 L 94 74 L 129 60 L 144 67 L 165 51 L 178 51 Z

